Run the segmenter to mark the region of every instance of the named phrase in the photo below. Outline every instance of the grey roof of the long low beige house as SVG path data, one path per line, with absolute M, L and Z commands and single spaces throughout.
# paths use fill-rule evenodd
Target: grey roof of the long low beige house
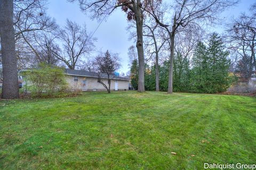
M 98 78 L 98 73 L 90 72 L 90 71 L 83 71 L 83 70 L 65 69 L 65 74 L 67 74 L 67 75 L 76 75 L 76 76 L 83 76 L 83 77 Z M 108 75 L 106 73 L 100 73 L 100 77 L 101 78 L 108 78 Z M 111 79 L 116 79 L 116 80 L 126 80 L 126 81 L 129 80 L 127 78 L 118 77 L 118 76 L 116 76 L 114 74 L 111 74 L 110 78 Z

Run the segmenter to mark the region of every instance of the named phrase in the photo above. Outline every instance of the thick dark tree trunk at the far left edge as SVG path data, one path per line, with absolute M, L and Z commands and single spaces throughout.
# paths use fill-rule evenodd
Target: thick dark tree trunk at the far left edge
M 2 98 L 19 98 L 12 0 L 0 0 L 0 35 L 3 57 Z

